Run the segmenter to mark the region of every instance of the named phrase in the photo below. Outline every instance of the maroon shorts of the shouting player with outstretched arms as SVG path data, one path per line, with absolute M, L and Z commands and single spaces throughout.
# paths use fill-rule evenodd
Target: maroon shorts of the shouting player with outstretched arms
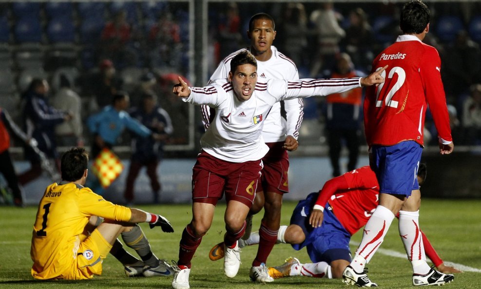
M 262 161 L 233 163 L 202 151 L 192 174 L 192 201 L 216 205 L 225 192 L 226 201 L 252 207 L 259 183 Z

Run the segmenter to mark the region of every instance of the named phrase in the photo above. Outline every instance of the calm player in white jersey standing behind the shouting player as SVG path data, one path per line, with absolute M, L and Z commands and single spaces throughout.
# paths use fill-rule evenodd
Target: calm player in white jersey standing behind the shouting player
M 272 46 L 272 42 L 276 38 L 276 29 L 274 19 L 270 15 L 258 13 L 252 16 L 249 20 L 247 37 L 251 40 L 250 47 L 241 49 L 224 58 L 210 77 L 210 83 L 219 78 L 227 78 L 232 58 L 240 51 L 246 50 L 249 50 L 257 59 L 257 74 L 261 81 L 299 79 L 296 64 L 277 51 L 275 46 Z M 276 244 L 280 227 L 282 196 L 284 193 L 289 193 L 289 156 L 287 151 L 297 149 L 297 137 L 303 117 L 302 109 L 304 105 L 301 98 L 285 100 L 283 103 L 287 119 L 281 116 L 281 104 L 276 102 L 264 120 L 262 136 L 269 147 L 269 152 L 262 158 L 264 168 L 262 169 L 254 204 L 247 215 L 246 232 L 243 237 L 244 239 L 249 237 L 252 230 L 252 216 L 264 207 L 264 216 L 259 228 L 259 248 L 249 274 L 252 281 L 257 282 L 274 281 L 267 274 L 265 263 Z M 209 106 L 203 105 L 202 115 L 204 127 L 207 129 L 214 113 L 211 114 Z

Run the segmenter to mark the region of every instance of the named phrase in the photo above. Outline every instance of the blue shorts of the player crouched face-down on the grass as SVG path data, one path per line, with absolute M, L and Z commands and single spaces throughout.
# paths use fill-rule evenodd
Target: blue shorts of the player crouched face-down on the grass
M 312 228 L 309 224 L 311 209 L 319 193 L 311 193 L 306 199 L 299 201 L 291 216 L 291 225 L 302 228 L 306 239 L 301 244 L 293 244 L 292 248 L 301 250 L 306 247 L 307 253 L 314 263 L 334 260 L 347 260 L 351 262 L 349 241 L 351 235 L 344 229 L 332 212 L 329 203 L 324 210 L 324 219 L 321 227 Z

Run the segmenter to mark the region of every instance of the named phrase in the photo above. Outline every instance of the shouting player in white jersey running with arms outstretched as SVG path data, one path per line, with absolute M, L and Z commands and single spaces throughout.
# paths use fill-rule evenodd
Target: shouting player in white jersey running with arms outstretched
M 225 255 L 227 277 L 237 275 L 240 267 L 238 240 L 245 231 L 245 218 L 252 206 L 262 169 L 261 158 L 269 148 L 262 138 L 263 120 L 274 103 L 308 96 L 326 96 L 359 86 L 383 83 L 384 68 L 364 78 L 270 79 L 257 82 L 257 61 L 242 51 L 231 61 L 228 79 L 216 80 L 205 87 L 189 88 L 179 77 L 173 93 L 191 104 L 209 105 L 216 116 L 201 138 L 202 151 L 192 175 L 192 221 L 180 241 L 179 272 L 172 287 L 188 289 L 191 260 L 202 236 L 212 224 L 215 205 L 225 193 Z

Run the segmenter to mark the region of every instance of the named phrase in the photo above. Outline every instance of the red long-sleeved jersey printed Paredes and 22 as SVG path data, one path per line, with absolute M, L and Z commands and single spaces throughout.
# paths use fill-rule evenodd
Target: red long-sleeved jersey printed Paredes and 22
M 366 139 L 391 146 L 414 140 L 424 145 L 427 106 L 439 136 L 452 141 L 438 51 L 412 35 L 402 35 L 372 62 L 372 71 L 388 65 L 385 82 L 370 86 L 364 100 Z

